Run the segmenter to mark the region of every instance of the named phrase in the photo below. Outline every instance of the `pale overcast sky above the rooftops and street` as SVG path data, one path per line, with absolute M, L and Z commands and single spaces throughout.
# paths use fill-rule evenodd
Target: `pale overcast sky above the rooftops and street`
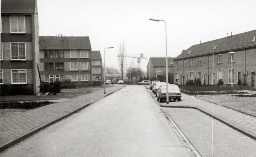
M 168 57 L 190 46 L 256 29 L 256 0 L 37 0 L 40 36 L 89 36 L 106 66 L 118 68 L 118 48 L 127 54 Z M 132 58 L 127 58 L 130 65 Z M 134 59 L 137 66 L 137 60 Z M 141 68 L 146 71 L 148 60 Z

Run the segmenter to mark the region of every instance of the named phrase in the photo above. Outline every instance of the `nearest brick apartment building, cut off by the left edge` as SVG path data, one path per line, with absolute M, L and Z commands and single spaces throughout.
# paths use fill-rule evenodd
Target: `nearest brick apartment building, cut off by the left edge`
M 0 84 L 39 92 L 36 0 L 1 0 Z

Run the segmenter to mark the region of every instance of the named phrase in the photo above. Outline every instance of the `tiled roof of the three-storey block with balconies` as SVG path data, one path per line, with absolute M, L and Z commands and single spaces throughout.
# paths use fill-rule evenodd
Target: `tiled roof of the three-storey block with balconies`
M 40 36 L 39 49 L 92 49 L 89 37 Z

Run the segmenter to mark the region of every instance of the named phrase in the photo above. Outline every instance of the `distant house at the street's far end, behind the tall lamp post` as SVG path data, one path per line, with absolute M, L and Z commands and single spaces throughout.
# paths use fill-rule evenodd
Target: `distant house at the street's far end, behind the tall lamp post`
M 168 57 L 168 73 L 173 73 L 173 59 Z M 151 57 L 147 65 L 147 76 L 160 79 L 166 75 L 166 57 Z

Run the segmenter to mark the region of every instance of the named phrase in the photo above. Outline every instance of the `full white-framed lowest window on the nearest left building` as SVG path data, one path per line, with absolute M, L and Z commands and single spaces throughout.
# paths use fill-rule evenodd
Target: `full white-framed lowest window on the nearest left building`
M 12 70 L 12 84 L 26 84 L 26 69 Z

